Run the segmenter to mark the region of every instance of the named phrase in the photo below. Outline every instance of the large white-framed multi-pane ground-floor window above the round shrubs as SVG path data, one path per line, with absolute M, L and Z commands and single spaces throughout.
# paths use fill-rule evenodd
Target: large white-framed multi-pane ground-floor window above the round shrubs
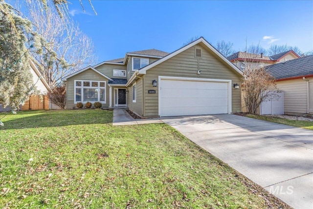
M 83 85 L 82 85 L 83 84 Z M 77 102 L 102 102 L 106 103 L 105 81 L 75 81 L 75 101 Z

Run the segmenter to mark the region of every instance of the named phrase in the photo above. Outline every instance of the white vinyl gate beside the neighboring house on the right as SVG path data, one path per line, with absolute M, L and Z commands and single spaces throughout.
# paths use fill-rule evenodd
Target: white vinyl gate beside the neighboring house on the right
M 262 102 L 260 106 L 260 115 L 284 115 L 284 92 L 270 91 L 270 93 L 270 100 Z

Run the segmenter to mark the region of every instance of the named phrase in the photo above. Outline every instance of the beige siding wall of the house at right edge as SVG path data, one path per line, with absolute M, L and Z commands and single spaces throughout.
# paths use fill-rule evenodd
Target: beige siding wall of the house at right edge
M 307 113 L 307 82 L 302 78 L 278 81 L 277 87 L 284 91 L 285 114 Z

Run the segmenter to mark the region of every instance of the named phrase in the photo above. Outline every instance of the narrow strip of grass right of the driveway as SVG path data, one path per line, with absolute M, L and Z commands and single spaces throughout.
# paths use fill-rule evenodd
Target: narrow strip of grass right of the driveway
M 269 122 L 281 123 L 285 125 L 313 130 L 313 121 L 291 120 L 291 119 L 273 117 L 273 116 L 256 116 L 256 115 L 246 115 L 246 116 L 255 118 L 255 119 L 266 120 Z

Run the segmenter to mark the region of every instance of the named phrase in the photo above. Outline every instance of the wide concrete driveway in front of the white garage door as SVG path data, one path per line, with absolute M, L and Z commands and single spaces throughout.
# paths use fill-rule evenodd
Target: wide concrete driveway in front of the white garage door
M 313 209 L 313 131 L 236 115 L 161 120 L 291 207 Z

